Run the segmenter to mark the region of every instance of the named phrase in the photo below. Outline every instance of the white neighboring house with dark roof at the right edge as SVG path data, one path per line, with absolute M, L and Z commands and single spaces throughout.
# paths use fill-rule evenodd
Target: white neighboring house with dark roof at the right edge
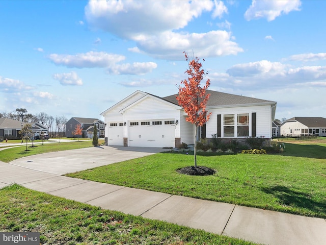
M 287 119 L 281 125 L 281 135 L 284 136 L 326 136 L 326 118 L 295 116 Z

